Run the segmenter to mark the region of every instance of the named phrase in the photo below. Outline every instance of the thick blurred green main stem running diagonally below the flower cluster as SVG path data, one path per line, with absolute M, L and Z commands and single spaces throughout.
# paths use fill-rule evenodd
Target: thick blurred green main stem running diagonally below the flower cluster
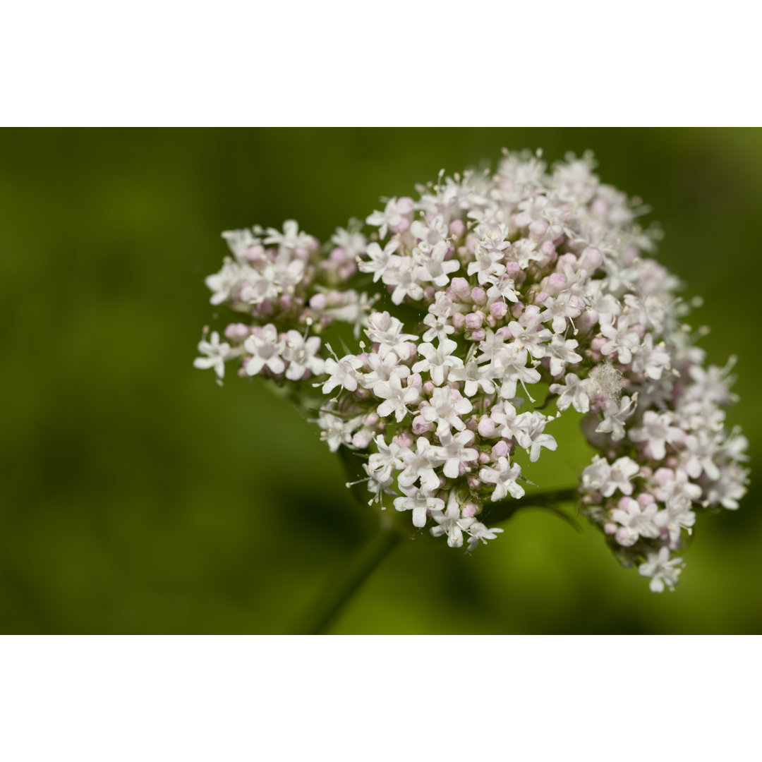
M 322 596 L 304 618 L 303 624 L 297 627 L 297 632 L 302 635 L 325 634 L 347 601 L 395 549 L 400 539 L 401 534 L 386 528 L 371 537 L 341 575 L 326 585 Z

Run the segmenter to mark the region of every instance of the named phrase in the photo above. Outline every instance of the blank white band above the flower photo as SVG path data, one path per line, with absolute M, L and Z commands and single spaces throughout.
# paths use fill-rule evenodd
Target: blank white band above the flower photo
M 6 5 L 6 125 L 760 123 L 738 0 Z

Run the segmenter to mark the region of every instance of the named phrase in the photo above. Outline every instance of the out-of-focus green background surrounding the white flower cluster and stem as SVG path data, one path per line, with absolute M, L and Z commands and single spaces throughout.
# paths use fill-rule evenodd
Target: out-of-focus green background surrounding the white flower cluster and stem
M 220 389 L 191 367 L 219 233 L 293 218 L 325 241 L 502 146 L 593 149 L 605 182 L 652 205 L 660 260 L 705 299 L 709 359 L 738 354 L 729 421 L 754 455 L 760 130 L 4 130 L 0 631 L 289 632 L 376 517 L 258 379 Z M 543 486 L 587 462 L 574 428 Z M 741 510 L 700 517 L 674 594 L 548 512 L 473 555 L 421 536 L 331 631 L 760 632 L 759 502 L 753 481 Z

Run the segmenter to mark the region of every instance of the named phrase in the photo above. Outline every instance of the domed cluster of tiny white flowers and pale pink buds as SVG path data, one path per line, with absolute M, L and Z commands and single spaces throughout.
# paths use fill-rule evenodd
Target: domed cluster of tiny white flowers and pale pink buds
M 696 515 L 746 491 L 747 440 L 724 427 L 732 360 L 704 365 L 645 208 L 593 169 L 506 153 L 325 246 L 293 220 L 225 232 L 232 257 L 206 282 L 238 319 L 195 364 L 286 386 L 331 452 L 360 456 L 371 504 L 453 548 L 501 533 L 485 507 L 523 497 L 552 421 L 577 411 L 600 453 L 581 511 L 652 591 L 672 589 Z

